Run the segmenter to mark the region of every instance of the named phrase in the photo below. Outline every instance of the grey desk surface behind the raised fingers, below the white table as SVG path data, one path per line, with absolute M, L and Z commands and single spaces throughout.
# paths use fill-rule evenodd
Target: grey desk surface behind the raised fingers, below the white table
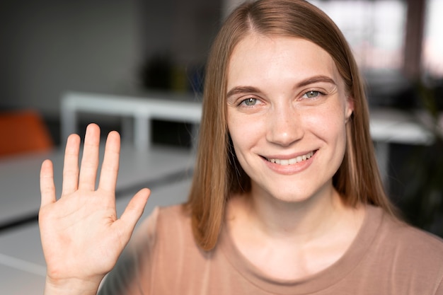
M 103 157 L 103 151 L 100 153 Z M 33 154 L 0 160 L 0 229 L 23 219 L 35 219 L 40 207 L 40 166 L 45 158 L 54 163 L 57 197 L 61 193 L 63 152 Z M 191 151 L 153 146 L 137 151 L 122 146 L 116 195 L 129 195 L 142 187 L 192 175 Z

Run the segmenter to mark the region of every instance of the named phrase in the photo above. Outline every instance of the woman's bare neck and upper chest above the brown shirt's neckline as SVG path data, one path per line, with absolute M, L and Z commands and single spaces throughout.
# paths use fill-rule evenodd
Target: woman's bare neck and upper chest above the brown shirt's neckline
M 280 279 L 297 279 L 332 265 L 363 222 L 364 207 L 345 207 L 332 184 L 297 202 L 253 187 L 231 198 L 226 226 L 236 248 L 255 267 Z M 294 267 L 297 265 L 297 267 Z

